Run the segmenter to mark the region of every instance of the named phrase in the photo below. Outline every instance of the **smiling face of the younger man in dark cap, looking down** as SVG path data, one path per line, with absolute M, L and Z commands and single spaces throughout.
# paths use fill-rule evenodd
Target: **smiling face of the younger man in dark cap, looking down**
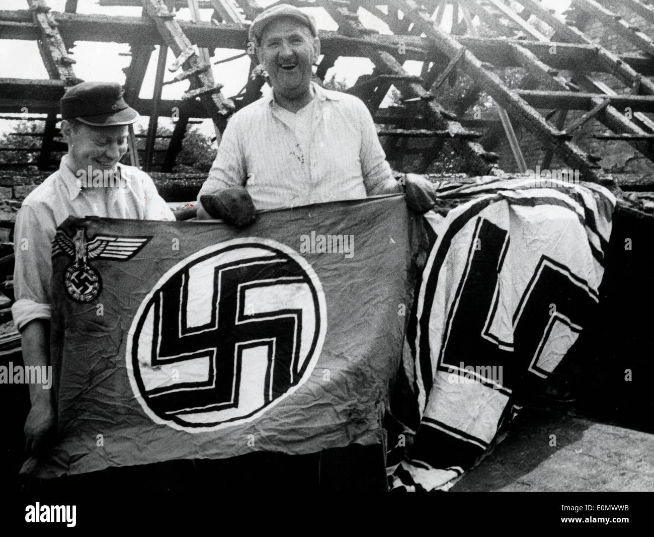
M 63 141 L 68 144 L 69 161 L 73 173 L 78 170 L 110 170 L 127 152 L 128 126 L 92 127 L 81 124 L 73 128 L 69 122 L 61 123 Z

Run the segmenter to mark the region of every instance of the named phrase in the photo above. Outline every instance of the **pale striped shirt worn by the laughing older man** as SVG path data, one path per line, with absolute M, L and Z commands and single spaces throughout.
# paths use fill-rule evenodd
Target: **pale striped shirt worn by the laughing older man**
M 271 91 L 234 114 L 200 194 L 245 186 L 257 209 L 401 192 L 366 105 L 311 82 L 294 114 Z

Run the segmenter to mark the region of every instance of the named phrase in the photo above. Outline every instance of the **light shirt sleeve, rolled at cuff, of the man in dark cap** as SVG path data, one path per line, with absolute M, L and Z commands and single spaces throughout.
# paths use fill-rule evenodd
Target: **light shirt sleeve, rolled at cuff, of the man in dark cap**
M 16 328 L 34 319 L 50 319 L 50 278 L 54 226 L 47 207 L 23 205 L 14 229 L 14 296 Z

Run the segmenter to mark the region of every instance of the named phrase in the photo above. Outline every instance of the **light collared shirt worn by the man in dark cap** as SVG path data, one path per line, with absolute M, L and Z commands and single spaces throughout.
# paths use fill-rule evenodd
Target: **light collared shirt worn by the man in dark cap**
M 69 216 L 134 218 L 137 220 L 175 220 L 159 196 L 149 175 L 119 164 L 121 186 L 81 188 L 78 179 L 61 159 L 56 171 L 37 186 L 16 216 L 14 245 L 14 295 L 11 307 L 16 328 L 33 319 L 50 319 L 52 293 L 52 239 L 56 229 Z

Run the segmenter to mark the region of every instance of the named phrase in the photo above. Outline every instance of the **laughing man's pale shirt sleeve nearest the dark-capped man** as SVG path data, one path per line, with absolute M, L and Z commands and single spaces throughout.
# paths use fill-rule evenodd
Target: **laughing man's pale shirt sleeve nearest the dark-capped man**
M 209 170 L 209 177 L 200 188 L 198 199 L 200 196 L 214 194 L 223 188 L 245 184 L 247 170 L 239 139 L 239 126 L 239 118 L 235 115 L 225 128 L 216 158 Z

